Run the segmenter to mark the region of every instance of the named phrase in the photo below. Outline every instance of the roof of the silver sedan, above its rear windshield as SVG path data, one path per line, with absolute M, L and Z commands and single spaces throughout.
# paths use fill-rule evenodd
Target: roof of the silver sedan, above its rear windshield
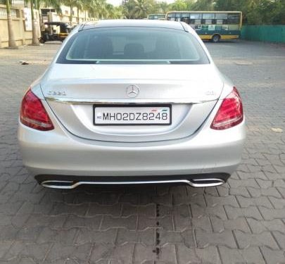
M 101 27 L 161 27 L 173 30 L 185 30 L 182 23 L 168 20 L 132 20 L 132 19 L 114 19 L 97 20 L 83 23 L 78 31 L 90 30 Z

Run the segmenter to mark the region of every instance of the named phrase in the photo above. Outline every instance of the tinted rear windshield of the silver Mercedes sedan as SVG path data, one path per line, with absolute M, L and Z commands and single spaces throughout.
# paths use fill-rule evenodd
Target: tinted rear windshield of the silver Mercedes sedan
M 108 27 L 77 32 L 57 63 L 209 63 L 189 32 L 153 27 Z

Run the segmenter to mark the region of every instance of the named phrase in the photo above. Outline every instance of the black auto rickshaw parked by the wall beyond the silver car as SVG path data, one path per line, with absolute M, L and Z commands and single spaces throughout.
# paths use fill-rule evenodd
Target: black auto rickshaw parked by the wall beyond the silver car
M 63 42 L 65 37 L 71 31 L 71 27 L 65 22 L 45 22 L 44 30 L 42 30 L 42 36 L 39 38 L 40 43 L 60 41 Z

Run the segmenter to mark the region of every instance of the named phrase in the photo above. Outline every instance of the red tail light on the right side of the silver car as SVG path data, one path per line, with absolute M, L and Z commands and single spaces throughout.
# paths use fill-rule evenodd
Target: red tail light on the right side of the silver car
M 215 115 L 211 128 L 213 130 L 226 130 L 239 125 L 243 120 L 243 104 L 239 92 L 234 87 L 232 92 L 222 101 Z

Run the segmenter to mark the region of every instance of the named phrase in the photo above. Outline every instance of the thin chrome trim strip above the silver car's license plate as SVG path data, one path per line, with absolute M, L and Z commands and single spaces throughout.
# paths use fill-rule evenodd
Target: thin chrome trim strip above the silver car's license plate
M 75 104 L 86 104 L 86 103 L 96 103 L 96 104 L 128 104 L 128 103 L 205 103 L 209 101 L 217 101 L 217 99 L 208 101 L 198 101 L 191 99 L 77 99 L 77 98 L 63 98 L 63 97 L 51 97 L 46 96 L 46 100 L 57 102 L 57 103 L 75 103 Z

